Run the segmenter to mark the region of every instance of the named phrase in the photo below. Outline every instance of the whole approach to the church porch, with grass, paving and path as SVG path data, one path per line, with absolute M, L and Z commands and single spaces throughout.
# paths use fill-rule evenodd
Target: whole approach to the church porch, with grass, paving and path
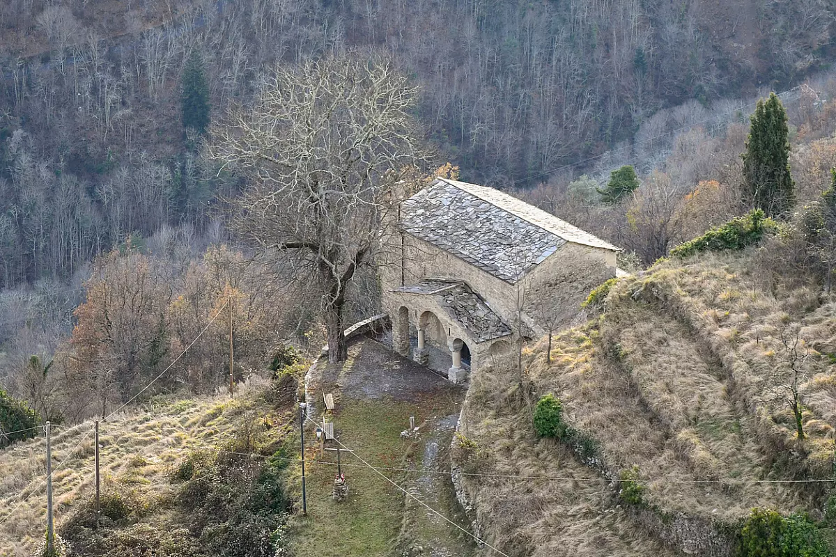
M 339 547 L 344 557 L 471 554 L 471 538 L 424 506 L 470 529 L 449 475 L 450 445 L 465 389 L 368 338 L 349 346 L 347 362 L 312 369 L 306 387 L 317 421 L 323 393 L 334 395 L 334 432 L 355 453 L 344 460 L 351 495 L 339 504 L 329 493 L 333 468 L 311 466 L 308 516 L 316 528 L 298 531 L 296 549 L 325 554 Z M 401 438 L 410 416 L 421 424 L 420 433 Z M 356 457 L 380 468 L 417 500 Z M 332 538 L 332 532 L 340 534 Z

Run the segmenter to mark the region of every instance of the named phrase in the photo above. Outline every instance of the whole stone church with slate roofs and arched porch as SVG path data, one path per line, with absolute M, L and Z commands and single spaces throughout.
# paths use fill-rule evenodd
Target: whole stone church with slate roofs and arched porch
M 568 324 L 615 276 L 618 248 L 493 188 L 436 178 L 392 219 L 381 286 L 393 347 L 453 382 L 513 365 L 517 340 Z

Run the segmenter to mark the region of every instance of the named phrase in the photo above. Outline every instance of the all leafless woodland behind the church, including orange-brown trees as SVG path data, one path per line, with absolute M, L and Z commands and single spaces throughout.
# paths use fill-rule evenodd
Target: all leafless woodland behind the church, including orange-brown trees
M 788 91 L 799 197 L 829 183 L 834 15 L 823 0 L 8 0 L 0 379 L 46 400 L 51 386 L 31 355 L 46 362 L 69 350 L 79 312 L 94 320 L 107 304 L 145 321 L 108 322 L 109 348 L 55 369 L 121 388 L 122 398 L 138 369 L 153 375 L 206 326 L 218 309 L 210 294 L 242 296 L 242 323 L 259 332 L 245 357 L 269 350 L 255 340 L 280 340 L 277 322 L 279 337 L 310 328 L 306 310 L 270 309 L 298 307 L 302 292 L 264 288 L 240 263 L 249 255 L 212 247 L 229 240 L 226 206 L 242 179 L 184 133 L 181 77 L 192 52 L 205 63 L 212 122 L 250 104 L 277 64 L 351 49 L 391 58 L 420 90 L 415 117 L 439 163 L 614 241 L 627 250 L 624 265 L 646 265 L 739 213 L 747 117 L 770 89 Z M 600 205 L 594 188 L 622 164 L 636 166 L 642 187 Z M 373 282 L 366 275 L 355 290 Z M 141 311 L 111 296 L 119 291 L 135 292 Z M 353 296 L 349 314 L 372 298 Z M 206 351 L 195 357 L 223 362 L 219 349 Z M 189 375 L 198 367 L 185 362 L 177 381 L 212 384 Z

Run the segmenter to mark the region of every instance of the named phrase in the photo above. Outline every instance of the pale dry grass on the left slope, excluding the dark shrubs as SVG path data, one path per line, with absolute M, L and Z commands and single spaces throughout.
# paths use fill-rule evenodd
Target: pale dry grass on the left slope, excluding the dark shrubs
M 153 498 L 168 489 L 167 475 L 187 450 L 216 446 L 232 433 L 234 419 L 255 408 L 244 386 L 236 398 L 154 399 L 135 411 L 99 424 L 104 482 Z M 94 489 L 93 422 L 58 428 L 53 442 L 56 526 Z M 46 531 L 46 443 L 43 437 L 0 450 L 0 555 L 22 557 Z M 59 463 L 63 464 L 59 466 Z

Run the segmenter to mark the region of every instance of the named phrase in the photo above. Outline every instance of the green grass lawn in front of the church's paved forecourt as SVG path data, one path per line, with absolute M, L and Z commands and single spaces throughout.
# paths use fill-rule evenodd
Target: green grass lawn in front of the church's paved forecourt
M 420 424 L 426 418 L 456 408 L 455 402 L 443 395 L 416 397 L 411 401 L 351 400 L 340 406 L 334 422 L 342 443 L 368 463 L 390 468 L 404 468 L 413 454 L 421 458 L 421 441 L 414 443 L 400 438 L 400 432 L 409 426 L 410 416 L 415 416 L 415 423 Z M 313 444 L 312 441 L 308 446 Z M 320 458 L 319 450 L 314 448 L 308 448 L 307 458 L 336 462 L 333 451 L 326 451 Z M 293 551 L 358 557 L 393 554 L 403 522 L 403 493 L 373 470 L 364 468 L 357 458 L 344 454 L 343 463 L 349 464 L 343 468 L 349 498 L 340 503 L 331 497 L 336 466 L 323 463 L 306 466 L 308 517 L 294 518 Z M 395 483 L 404 484 L 406 473 L 384 473 Z

